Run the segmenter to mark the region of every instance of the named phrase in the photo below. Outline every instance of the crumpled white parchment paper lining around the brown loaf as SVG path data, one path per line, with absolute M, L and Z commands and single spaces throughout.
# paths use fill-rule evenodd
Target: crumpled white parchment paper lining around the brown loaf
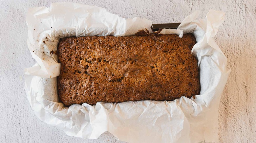
M 177 30 L 162 34 L 193 33 L 197 44 L 192 53 L 198 58 L 201 93 L 194 98 L 174 101 L 98 102 L 65 107 L 59 103 L 56 77 L 60 64 L 54 54 L 58 40 L 70 36 L 129 36 L 150 30 L 151 21 L 118 17 L 95 6 L 53 3 L 50 8 L 30 8 L 28 47 L 36 64 L 25 69 L 25 89 L 36 116 L 63 130 L 67 135 L 97 138 L 109 131 L 119 140 L 189 143 L 218 141 L 218 106 L 230 70 L 226 57 L 214 41 L 224 13 L 210 10 L 197 20 L 199 11 L 187 16 Z M 151 32 L 152 33 L 152 32 Z M 171 62 L 171 61 L 170 61 Z

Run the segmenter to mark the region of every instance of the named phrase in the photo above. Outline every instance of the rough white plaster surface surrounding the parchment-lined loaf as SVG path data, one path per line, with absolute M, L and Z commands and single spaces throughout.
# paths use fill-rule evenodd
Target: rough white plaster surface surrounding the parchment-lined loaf
M 60 0 L 61 1 L 61 0 Z M 55 0 L 0 2 L 0 142 L 121 142 L 109 133 L 97 140 L 70 137 L 37 119 L 24 91 L 23 69 L 35 61 L 27 48 L 28 8 L 50 6 Z M 62 0 L 62 2 L 64 2 Z M 195 10 L 226 13 L 216 42 L 232 69 L 219 107 L 220 142 L 256 142 L 256 1 L 254 0 L 66 0 L 104 7 L 124 18 L 142 17 L 172 23 Z

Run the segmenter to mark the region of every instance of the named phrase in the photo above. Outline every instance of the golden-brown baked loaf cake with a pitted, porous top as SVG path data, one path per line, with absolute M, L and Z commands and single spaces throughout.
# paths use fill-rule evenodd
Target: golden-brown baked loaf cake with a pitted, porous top
M 59 100 L 69 106 L 198 95 L 197 59 L 191 54 L 195 43 L 192 34 L 61 39 Z

